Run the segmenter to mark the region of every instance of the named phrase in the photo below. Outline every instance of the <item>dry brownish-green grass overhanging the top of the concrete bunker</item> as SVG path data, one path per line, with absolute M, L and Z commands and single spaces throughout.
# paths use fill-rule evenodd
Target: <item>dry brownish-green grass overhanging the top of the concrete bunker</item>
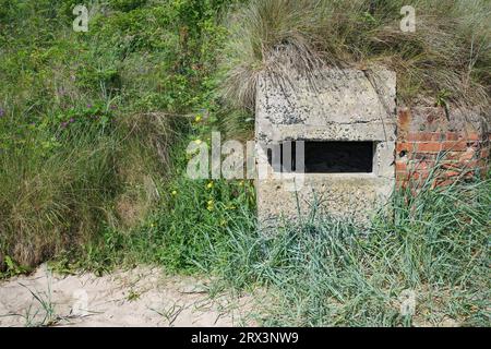
M 416 32 L 403 32 L 399 0 L 252 0 L 231 11 L 223 57 L 223 94 L 253 110 L 262 72 L 288 80 L 290 67 L 312 75 L 323 65 L 397 72 L 406 104 L 489 106 L 491 3 L 412 1 Z

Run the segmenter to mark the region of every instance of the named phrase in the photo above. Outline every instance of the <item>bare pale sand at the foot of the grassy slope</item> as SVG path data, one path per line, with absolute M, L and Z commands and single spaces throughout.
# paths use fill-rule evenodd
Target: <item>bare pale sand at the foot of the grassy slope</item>
M 137 267 L 97 277 L 46 265 L 0 281 L 0 326 L 243 326 L 253 298 L 209 297 L 207 281 Z

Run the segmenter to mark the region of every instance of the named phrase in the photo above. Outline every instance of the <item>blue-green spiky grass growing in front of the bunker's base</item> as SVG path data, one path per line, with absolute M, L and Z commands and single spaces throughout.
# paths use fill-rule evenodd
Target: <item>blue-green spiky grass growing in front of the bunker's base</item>
M 310 217 L 266 236 L 239 220 L 207 264 L 274 294 L 266 325 L 489 326 L 490 194 L 489 181 L 398 191 L 368 228 Z M 414 314 L 400 310 L 408 291 Z

